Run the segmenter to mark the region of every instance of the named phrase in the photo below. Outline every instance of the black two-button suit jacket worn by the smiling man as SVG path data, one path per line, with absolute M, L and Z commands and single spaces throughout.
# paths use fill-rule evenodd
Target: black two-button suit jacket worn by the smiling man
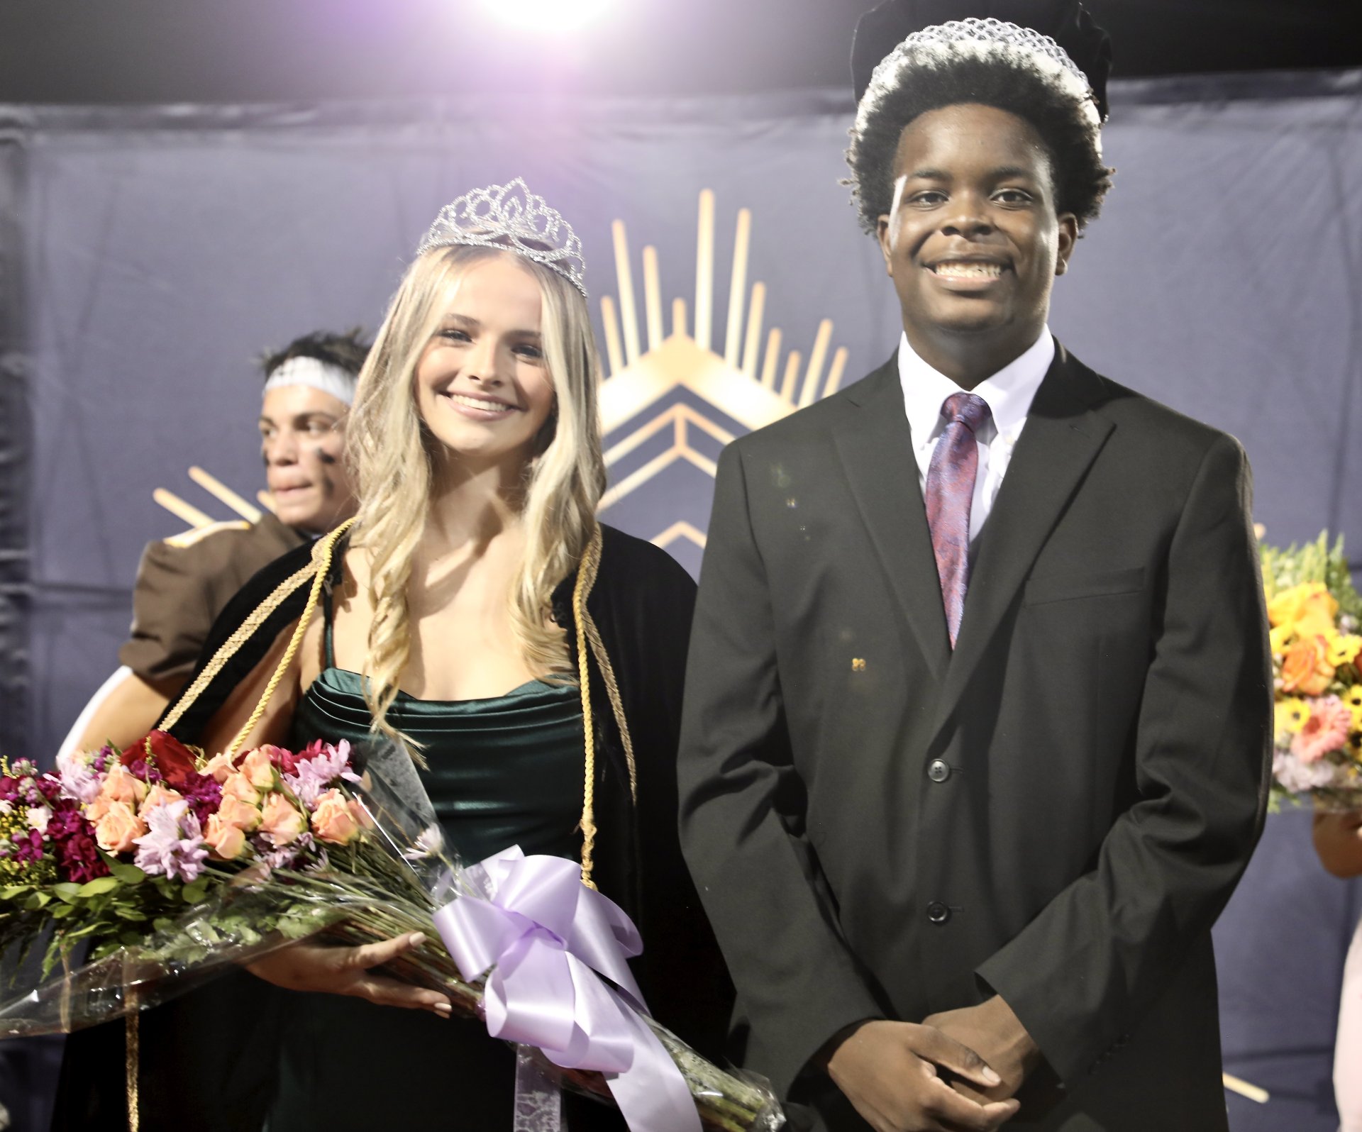
M 1224 1127 L 1211 924 L 1261 831 L 1271 661 L 1231 437 L 1062 347 L 947 638 L 898 368 L 725 451 L 682 845 L 746 1064 L 1000 993 L 1043 1127 Z

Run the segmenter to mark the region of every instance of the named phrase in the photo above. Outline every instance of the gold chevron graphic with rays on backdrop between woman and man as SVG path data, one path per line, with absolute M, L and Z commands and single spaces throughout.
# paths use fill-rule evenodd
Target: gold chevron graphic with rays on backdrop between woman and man
M 647 335 L 647 350 L 642 349 L 633 270 L 624 221 L 616 221 L 612 226 L 618 302 L 610 296 L 601 298 L 607 362 L 607 376 L 601 386 L 601 422 L 607 440 L 617 429 L 637 420 L 678 388 L 689 390 L 744 428 L 757 429 L 828 396 L 842 384 L 847 351 L 844 346 L 839 347 L 828 365 L 828 347 L 832 342 L 831 319 L 824 319 L 819 324 L 806 364 L 798 350 L 790 350 L 782 366 L 782 334 L 778 327 L 771 327 L 765 332 L 765 349 L 761 349 L 765 283 L 755 282 L 750 292 L 748 290 L 748 255 L 752 241 L 749 208 L 740 208 L 737 217 L 723 353 L 719 354 L 712 347 L 714 210 L 714 191 L 701 189 L 696 234 L 693 334 L 686 328 L 685 300 L 673 298 L 671 334 L 663 336 L 658 251 L 651 245 L 643 249 L 642 328 Z M 828 365 L 827 376 L 823 372 L 824 365 Z M 613 484 L 601 499 L 602 511 L 678 460 L 714 475 L 714 460 L 691 444 L 692 428 L 708 433 L 720 444 L 733 440 L 731 432 L 703 413 L 689 405 L 673 403 L 624 439 L 610 443 L 605 452 L 606 466 L 613 466 L 667 428 L 671 429 L 671 447 Z M 704 534 L 684 522 L 673 523 L 652 541 L 666 546 L 681 537 L 704 546 Z

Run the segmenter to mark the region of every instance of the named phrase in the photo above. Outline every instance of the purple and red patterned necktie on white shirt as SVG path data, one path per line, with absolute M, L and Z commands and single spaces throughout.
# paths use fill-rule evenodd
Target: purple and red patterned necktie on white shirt
M 979 469 L 974 433 L 989 420 L 989 403 L 978 394 L 951 394 L 941 406 L 947 426 L 928 466 L 928 526 L 941 579 L 941 602 L 951 647 L 960 635 L 964 591 L 970 584 L 970 503 Z

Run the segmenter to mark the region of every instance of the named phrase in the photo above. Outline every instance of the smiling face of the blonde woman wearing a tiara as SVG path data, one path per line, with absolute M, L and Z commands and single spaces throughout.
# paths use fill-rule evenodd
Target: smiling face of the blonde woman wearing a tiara
M 523 467 L 535 454 L 554 400 L 542 308 L 538 281 L 513 253 L 477 260 L 417 362 L 421 420 L 470 470 Z

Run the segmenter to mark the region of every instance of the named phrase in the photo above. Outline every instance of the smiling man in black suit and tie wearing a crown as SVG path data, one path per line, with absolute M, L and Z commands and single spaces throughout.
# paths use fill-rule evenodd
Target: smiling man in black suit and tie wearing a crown
M 997 20 L 876 68 L 849 161 L 898 353 L 719 463 L 682 840 L 744 1064 L 832 1129 L 1226 1128 L 1211 925 L 1271 741 L 1249 469 L 1046 327 L 1110 56 L 1043 7 L 1084 68 Z

